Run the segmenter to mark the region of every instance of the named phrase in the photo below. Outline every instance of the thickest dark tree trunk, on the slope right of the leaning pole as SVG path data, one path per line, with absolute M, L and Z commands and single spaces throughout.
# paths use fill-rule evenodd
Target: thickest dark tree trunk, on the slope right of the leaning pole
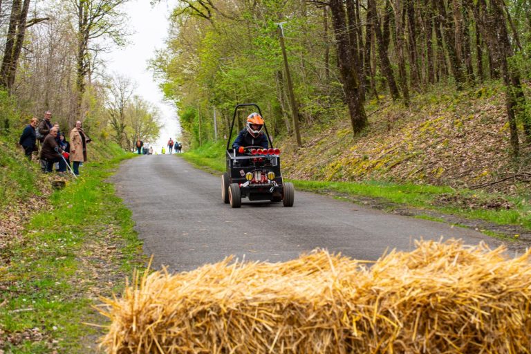
M 364 101 L 360 93 L 360 82 L 355 70 L 356 67 L 360 67 L 360 63 L 355 62 L 352 55 L 353 51 L 349 46 L 346 15 L 342 0 L 330 0 L 330 12 L 332 12 L 332 24 L 337 43 L 339 72 L 341 73 L 348 111 L 351 115 L 353 133 L 357 134 L 367 125 Z

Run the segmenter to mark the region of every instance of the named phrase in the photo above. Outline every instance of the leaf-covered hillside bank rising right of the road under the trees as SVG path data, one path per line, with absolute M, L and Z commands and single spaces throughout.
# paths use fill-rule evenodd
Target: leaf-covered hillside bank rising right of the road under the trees
M 384 108 L 378 109 L 369 102 L 370 126 L 360 136 L 353 137 L 348 120 L 342 118 L 306 131 L 301 149 L 296 149 L 294 139 L 280 138 L 285 174 L 302 180 L 389 180 L 452 187 L 494 183 L 491 189 L 525 192 L 525 182 L 497 183 L 511 174 L 531 180 L 530 147 L 522 147 L 519 164 L 510 158 L 501 86 L 460 93 L 439 90 L 416 95 L 409 108 L 380 102 Z

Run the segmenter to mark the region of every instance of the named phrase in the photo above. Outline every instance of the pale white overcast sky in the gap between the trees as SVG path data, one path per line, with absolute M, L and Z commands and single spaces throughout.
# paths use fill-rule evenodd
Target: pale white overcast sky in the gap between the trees
M 136 94 L 156 105 L 162 115 L 160 136 L 153 143 L 160 153 L 171 137 L 176 140 L 178 131 L 177 115 L 174 107 L 162 101 L 162 92 L 153 80 L 153 73 L 147 70 L 147 62 L 154 57 L 156 49 L 164 48 L 169 26 L 168 17 L 176 0 L 162 0 L 151 6 L 149 0 L 132 0 L 124 6 L 129 15 L 129 24 L 134 34 L 131 44 L 114 49 L 107 54 L 109 73 L 120 73 L 131 77 L 137 84 Z

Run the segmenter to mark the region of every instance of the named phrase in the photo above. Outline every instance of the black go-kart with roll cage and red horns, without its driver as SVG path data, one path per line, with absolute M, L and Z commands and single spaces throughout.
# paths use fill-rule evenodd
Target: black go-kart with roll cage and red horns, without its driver
M 221 198 L 231 207 L 241 207 L 241 198 L 249 201 L 282 202 L 285 207 L 292 207 L 295 201 L 295 188 L 292 183 L 284 182 L 280 171 L 280 150 L 274 149 L 268 129 L 269 148 L 259 146 L 244 147 L 243 153 L 232 149 L 232 130 L 236 113 L 240 107 L 255 106 L 263 117 L 260 107 L 254 103 L 237 104 L 227 140 L 227 171 L 221 176 Z

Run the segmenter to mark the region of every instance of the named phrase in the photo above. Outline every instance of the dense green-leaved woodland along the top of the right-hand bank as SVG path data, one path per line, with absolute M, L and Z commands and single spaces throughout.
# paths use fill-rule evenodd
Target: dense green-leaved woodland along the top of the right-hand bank
M 409 104 L 434 85 L 502 79 L 514 155 L 531 138 L 521 76 L 530 76 L 531 1 L 181 0 L 152 65 L 192 143 L 227 132 L 236 103 L 264 107 L 273 133 L 292 133 L 277 24 L 283 22 L 301 124 L 368 124 L 367 100 Z M 202 129 L 197 129 L 201 124 Z

